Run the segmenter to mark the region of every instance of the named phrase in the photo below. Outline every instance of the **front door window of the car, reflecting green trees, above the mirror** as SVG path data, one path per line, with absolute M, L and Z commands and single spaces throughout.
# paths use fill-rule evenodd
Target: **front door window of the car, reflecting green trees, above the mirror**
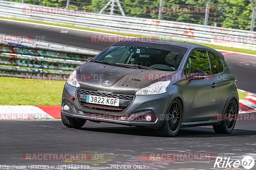
M 189 56 L 190 70 L 202 70 L 211 74 L 210 62 L 206 50 L 195 50 Z

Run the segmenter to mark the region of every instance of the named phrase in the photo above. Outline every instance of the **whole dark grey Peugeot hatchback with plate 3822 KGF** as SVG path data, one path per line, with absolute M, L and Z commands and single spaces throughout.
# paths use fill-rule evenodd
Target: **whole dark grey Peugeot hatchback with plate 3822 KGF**
M 206 46 L 159 39 L 125 39 L 70 74 L 61 119 L 81 128 L 86 120 L 158 129 L 213 125 L 231 133 L 239 110 L 236 79 L 223 55 Z

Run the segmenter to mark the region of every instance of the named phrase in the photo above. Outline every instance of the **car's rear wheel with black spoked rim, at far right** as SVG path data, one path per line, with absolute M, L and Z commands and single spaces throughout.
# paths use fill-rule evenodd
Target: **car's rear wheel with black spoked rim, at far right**
M 236 125 L 236 115 L 238 114 L 235 99 L 232 99 L 223 114 L 220 125 L 213 125 L 213 130 L 219 134 L 230 134 Z

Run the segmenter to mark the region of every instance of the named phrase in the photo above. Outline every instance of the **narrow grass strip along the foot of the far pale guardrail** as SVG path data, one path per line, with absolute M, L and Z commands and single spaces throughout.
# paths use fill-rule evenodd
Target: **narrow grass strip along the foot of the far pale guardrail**
M 141 36 L 141 35 L 138 35 L 138 34 L 124 34 L 124 33 L 119 33 L 119 32 L 114 32 L 114 31 L 113 32 L 112 31 L 102 31 L 102 30 L 98 30 L 98 29 L 78 27 L 78 26 L 74 26 L 74 25 L 55 24 L 55 23 L 47 23 L 47 22 L 34 21 L 34 20 L 18 19 L 18 18 L 6 18 L 6 17 L 0 17 L 0 18 L 12 19 L 12 20 L 17 20 L 17 21 L 26 21 L 26 22 L 32 22 L 32 23 L 40 23 L 40 24 L 63 26 L 63 27 L 76 28 L 76 29 L 82 29 L 82 30 L 106 32 L 106 33 L 119 34 L 119 35 L 127 35 L 127 36 L 134 36 L 134 37 Z M 174 39 L 168 39 L 168 40 L 174 40 Z M 175 40 L 175 41 L 177 41 L 177 40 Z M 189 42 L 189 41 L 187 41 L 187 42 Z M 208 46 L 208 47 L 215 48 L 215 49 L 220 49 L 220 50 L 234 51 L 234 52 L 239 52 L 239 53 L 256 54 L 256 51 L 254 51 L 254 50 L 247 50 L 247 49 L 227 47 L 227 46 L 216 46 L 216 45 L 203 44 L 203 43 L 196 43 L 196 44 L 201 44 L 203 46 Z

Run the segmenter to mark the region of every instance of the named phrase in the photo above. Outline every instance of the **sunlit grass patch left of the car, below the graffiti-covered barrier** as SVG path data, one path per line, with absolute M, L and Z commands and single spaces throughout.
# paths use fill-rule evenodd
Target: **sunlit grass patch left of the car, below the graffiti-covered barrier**
M 60 105 L 64 84 L 0 76 L 0 105 Z

